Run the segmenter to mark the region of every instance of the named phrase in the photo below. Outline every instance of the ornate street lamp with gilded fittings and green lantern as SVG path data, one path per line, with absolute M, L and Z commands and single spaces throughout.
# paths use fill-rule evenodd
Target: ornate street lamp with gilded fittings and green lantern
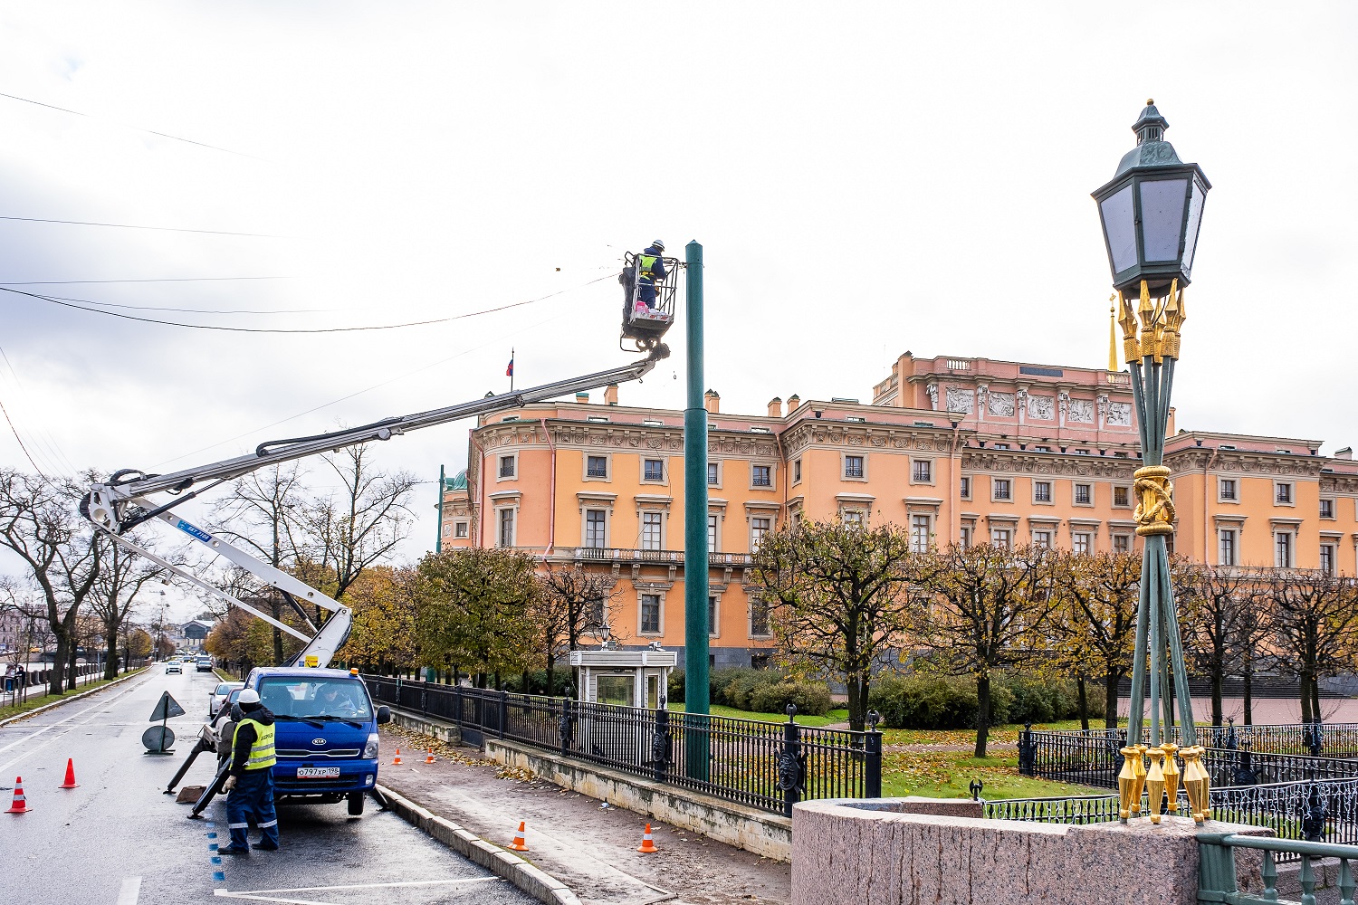
M 1200 763 L 1203 749 L 1198 746 L 1194 730 L 1179 612 L 1169 581 L 1165 536 L 1175 529 L 1175 503 L 1169 469 L 1162 463 L 1169 392 L 1186 317 L 1184 286 L 1192 274 L 1202 208 L 1211 183 L 1198 164 L 1179 160 L 1173 147 L 1164 140 L 1168 126 L 1154 102 L 1148 100 L 1133 126 L 1137 147 L 1123 156 L 1112 182 L 1093 193 L 1103 221 L 1108 267 L 1118 290 L 1118 320 L 1122 324 L 1123 354 L 1131 369 L 1142 450 L 1142 467 L 1134 475 L 1133 491 L 1137 494 L 1137 533 L 1145 539 L 1145 545 L 1131 669 L 1131 712 L 1118 791 L 1119 818 L 1123 822 L 1141 814 L 1141 792 L 1145 788 L 1150 796 L 1150 821 L 1160 824 L 1161 795 L 1168 795 L 1169 813 L 1177 811 L 1177 752 L 1184 763 L 1183 786 L 1192 818 L 1200 824 L 1209 815 L 1207 772 Z M 1179 689 L 1179 741 L 1183 748 L 1165 731 L 1175 722 L 1173 704 L 1165 693 L 1171 670 Z M 1148 684 L 1150 733 L 1149 744 L 1145 744 L 1142 720 Z

